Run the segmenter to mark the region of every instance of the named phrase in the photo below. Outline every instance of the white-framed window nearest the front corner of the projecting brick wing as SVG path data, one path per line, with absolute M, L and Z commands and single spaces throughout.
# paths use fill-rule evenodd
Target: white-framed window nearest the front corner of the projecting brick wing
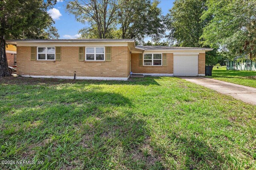
M 104 61 L 105 47 L 86 47 L 86 57 L 87 61 Z

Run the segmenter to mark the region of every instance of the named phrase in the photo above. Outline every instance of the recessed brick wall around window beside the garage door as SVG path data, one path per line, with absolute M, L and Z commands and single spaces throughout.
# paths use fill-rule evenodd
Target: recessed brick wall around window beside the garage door
M 173 53 L 166 54 L 167 66 L 139 66 L 139 54 L 131 54 L 133 73 L 173 74 Z

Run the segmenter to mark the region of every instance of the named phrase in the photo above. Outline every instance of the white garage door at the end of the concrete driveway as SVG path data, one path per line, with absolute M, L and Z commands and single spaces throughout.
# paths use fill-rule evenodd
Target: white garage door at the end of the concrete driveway
M 198 55 L 174 55 L 174 76 L 198 76 Z

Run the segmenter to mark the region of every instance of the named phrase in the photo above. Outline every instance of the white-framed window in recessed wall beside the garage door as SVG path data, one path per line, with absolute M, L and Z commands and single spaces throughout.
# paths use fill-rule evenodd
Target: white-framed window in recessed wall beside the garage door
M 144 66 L 162 66 L 162 54 L 144 54 Z

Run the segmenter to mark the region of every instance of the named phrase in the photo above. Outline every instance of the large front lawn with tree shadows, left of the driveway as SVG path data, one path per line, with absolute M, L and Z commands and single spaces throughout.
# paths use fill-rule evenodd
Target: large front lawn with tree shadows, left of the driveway
M 0 78 L 0 169 L 256 169 L 256 107 L 174 77 Z

